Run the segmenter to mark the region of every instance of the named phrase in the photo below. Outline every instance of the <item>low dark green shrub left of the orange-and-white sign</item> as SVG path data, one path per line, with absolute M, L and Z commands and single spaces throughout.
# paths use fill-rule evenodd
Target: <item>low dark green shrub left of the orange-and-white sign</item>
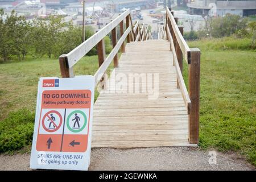
M 11 152 L 32 143 L 35 114 L 27 109 L 11 112 L 0 122 L 0 152 Z

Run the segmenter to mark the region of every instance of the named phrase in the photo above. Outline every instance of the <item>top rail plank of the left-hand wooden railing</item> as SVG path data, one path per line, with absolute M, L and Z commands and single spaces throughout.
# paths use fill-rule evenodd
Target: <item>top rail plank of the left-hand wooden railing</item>
M 115 18 L 112 22 L 107 24 L 104 28 L 98 31 L 96 34 L 91 36 L 85 42 L 81 43 L 71 52 L 69 52 L 66 57 L 68 60 L 68 68 L 72 68 L 86 53 L 90 51 L 94 46 L 97 45 L 114 27 L 117 27 L 118 24 L 130 14 L 130 9 L 126 10 L 124 13 Z

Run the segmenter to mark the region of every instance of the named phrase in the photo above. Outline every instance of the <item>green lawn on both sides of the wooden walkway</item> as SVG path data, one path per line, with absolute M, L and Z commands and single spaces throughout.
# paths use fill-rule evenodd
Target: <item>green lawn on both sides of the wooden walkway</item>
M 211 42 L 189 43 L 201 49 L 200 146 L 235 151 L 256 165 L 256 52 L 240 50 L 246 48 L 240 42 L 232 48 L 223 42 L 211 46 Z M 84 57 L 75 65 L 76 75 L 93 75 L 97 69 L 97 56 Z M 57 59 L 0 64 L 0 152 L 31 143 L 38 80 L 46 76 L 60 76 Z M 18 112 L 7 116 L 10 111 Z M 12 123 L 13 130 L 7 123 Z M 27 139 L 20 144 L 17 136 L 24 130 Z

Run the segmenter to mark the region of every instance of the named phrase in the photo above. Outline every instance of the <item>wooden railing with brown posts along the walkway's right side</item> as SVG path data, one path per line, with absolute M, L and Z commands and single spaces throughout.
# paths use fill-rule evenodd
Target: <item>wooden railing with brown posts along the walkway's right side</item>
M 189 143 L 199 143 L 199 105 L 200 105 L 200 49 L 189 48 L 183 38 L 183 27 L 177 26 L 174 11 L 166 8 L 164 30 L 170 42 L 177 72 L 177 88 L 181 89 L 183 99 L 188 108 L 188 139 Z M 159 33 L 159 32 L 158 32 Z M 182 77 L 183 57 L 188 63 L 188 92 Z M 190 100 L 190 102 L 189 102 Z

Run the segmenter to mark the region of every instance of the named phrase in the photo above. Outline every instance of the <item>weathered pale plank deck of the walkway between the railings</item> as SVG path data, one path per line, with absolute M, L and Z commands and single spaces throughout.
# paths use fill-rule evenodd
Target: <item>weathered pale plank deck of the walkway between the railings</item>
M 159 77 L 153 85 L 158 87 L 159 95 L 149 100 L 150 93 L 117 93 L 119 88 L 102 91 L 94 104 L 92 147 L 196 146 L 188 142 L 187 106 L 183 91 L 176 88 L 176 68 L 171 65 L 173 55 L 169 44 L 163 40 L 147 40 L 126 45 L 126 53 L 109 81 L 119 73 L 127 76 L 157 73 Z M 145 84 L 142 79 L 134 84 L 134 90 L 141 90 Z

